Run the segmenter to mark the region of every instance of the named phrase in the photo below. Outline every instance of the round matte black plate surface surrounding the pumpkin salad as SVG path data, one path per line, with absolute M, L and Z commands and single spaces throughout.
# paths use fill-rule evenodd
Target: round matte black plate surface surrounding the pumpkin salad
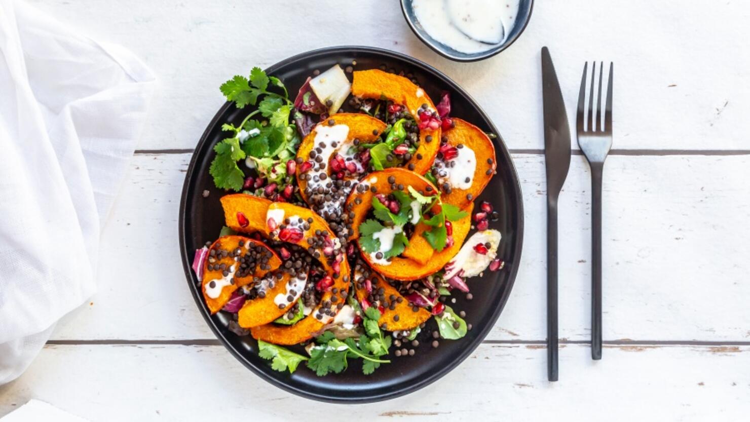
M 385 64 L 388 69 L 395 69 L 396 72 L 404 70 L 406 73 L 413 73 L 419 85 L 433 99 L 439 99 L 441 91 L 450 91 L 452 115 L 470 121 L 489 133 L 498 134 L 493 141 L 497 155 L 497 174 L 478 201 L 487 200 L 499 211 L 499 220 L 490 223 L 490 227 L 502 233 L 498 256 L 505 260 L 505 269 L 498 272 L 486 271 L 481 279 L 470 280 L 469 287 L 474 296 L 472 301 L 466 301 L 460 292 L 454 294 L 457 302 L 451 306 L 456 312 L 465 310 L 466 322 L 473 325 L 466 337 L 461 340 L 443 340 L 440 347 L 433 349 L 430 346 L 431 338 L 428 339 L 435 328 L 434 319 L 431 319 L 428 329 L 418 337 L 422 346 L 417 350 L 417 356 L 396 358 L 392 354 L 392 363 L 383 364 L 370 376 L 362 374 L 359 361 L 354 361 L 347 371 L 338 375 L 318 377 L 304 364 L 290 375 L 272 370 L 269 361 L 259 358 L 257 343 L 251 337 L 239 337 L 229 331 L 226 328 L 229 318 L 225 313 L 211 316 L 203 303 L 198 280 L 190 265 L 194 251 L 206 241 L 213 241 L 223 226 L 223 211 L 219 202 L 223 192 L 214 187 L 208 174 L 208 166 L 214 157 L 212 148 L 223 139 L 221 124 L 226 121 L 239 124 L 248 112 L 247 109 L 238 110 L 226 103 L 208 124 L 187 169 L 179 215 L 180 250 L 187 285 L 200 313 L 216 337 L 242 364 L 273 385 L 303 397 L 335 403 L 367 403 L 403 396 L 437 381 L 457 367 L 481 343 L 508 300 L 520 262 L 523 237 L 520 184 L 508 149 L 487 115 L 469 94 L 443 73 L 406 55 L 362 46 L 338 46 L 305 52 L 269 67 L 267 72 L 281 78 L 290 94 L 294 95 L 313 70 L 326 70 L 337 63 L 345 67 L 352 64 L 353 60 L 356 60 L 357 70 L 377 68 Z M 248 63 L 248 69 L 238 70 L 238 73 L 249 72 L 251 65 L 252 63 Z M 203 190 L 208 190 L 210 196 L 203 198 Z M 231 364 L 226 362 L 226 365 Z

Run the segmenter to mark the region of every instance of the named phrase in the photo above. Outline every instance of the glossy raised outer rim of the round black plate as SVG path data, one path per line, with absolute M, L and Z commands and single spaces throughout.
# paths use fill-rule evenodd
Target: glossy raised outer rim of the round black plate
M 431 73 L 433 76 L 437 76 L 437 78 L 441 79 L 442 82 L 447 82 L 447 85 L 449 85 L 449 88 L 452 88 L 454 91 L 456 91 L 458 94 L 466 97 L 466 100 L 474 107 L 475 111 L 478 112 L 479 115 L 481 115 L 482 118 L 484 118 L 485 121 L 487 121 L 490 124 L 490 129 L 493 130 L 493 133 L 497 135 L 498 139 L 498 146 L 499 148 L 496 148 L 496 150 L 499 149 L 499 151 L 496 151 L 496 154 L 502 154 L 503 158 L 505 159 L 506 163 L 508 163 L 508 170 L 511 173 L 512 182 L 514 184 L 514 202 L 517 206 L 517 231 L 514 233 L 516 236 L 515 242 L 513 245 L 511 245 L 511 250 L 514 251 L 514 262 L 509 262 L 510 267 L 510 274 L 508 275 L 508 286 L 503 291 L 502 295 L 499 298 L 499 303 L 495 305 L 493 309 L 493 313 L 490 316 L 489 322 L 484 328 L 479 332 L 476 340 L 472 343 L 469 343 L 466 348 L 463 349 L 463 351 L 458 355 L 458 358 L 456 358 L 454 361 L 452 361 L 450 364 L 441 367 L 439 370 L 432 373 L 430 376 L 427 376 L 423 379 L 419 379 L 413 384 L 407 385 L 406 387 L 402 388 L 396 388 L 393 391 L 388 391 L 386 393 L 382 394 L 371 394 L 371 395 L 359 395 L 357 397 L 347 397 L 347 396 L 337 396 L 333 394 L 319 394 L 314 393 L 311 391 L 306 391 L 302 388 L 296 388 L 292 385 L 287 385 L 284 382 L 280 382 L 278 379 L 273 379 L 270 376 L 267 376 L 266 373 L 263 372 L 263 370 L 260 370 L 259 367 L 256 367 L 255 364 L 253 364 L 251 361 L 248 361 L 248 359 L 245 358 L 245 356 L 242 354 L 241 351 L 239 351 L 236 347 L 233 346 L 232 343 L 230 343 L 228 340 L 226 340 L 223 333 L 220 332 L 219 327 L 217 327 L 216 323 L 213 319 L 211 319 L 210 313 L 207 312 L 206 308 L 204 306 L 201 306 L 202 304 L 202 296 L 199 295 L 199 289 L 196 287 L 196 283 L 193 282 L 193 271 L 192 271 L 192 262 L 190 262 L 190 252 L 186 249 L 186 228 L 185 228 L 185 215 L 187 211 L 187 193 L 190 190 L 190 182 L 193 180 L 193 172 L 196 170 L 197 166 L 197 157 L 198 157 L 198 151 L 202 150 L 204 148 L 204 145 L 206 142 L 208 142 L 208 136 L 211 133 L 212 130 L 214 130 L 214 127 L 216 127 L 217 124 L 220 124 L 220 119 L 223 118 L 223 115 L 226 113 L 227 109 L 229 109 L 230 106 L 232 106 L 232 103 L 227 101 L 226 103 L 221 106 L 213 118 L 211 118 L 211 121 L 206 126 L 205 130 L 200 136 L 199 141 L 197 142 L 195 148 L 193 149 L 192 156 L 190 157 L 190 163 L 187 167 L 187 172 L 185 172 L 185 178 L 182 186 L 182 192 L 180 197 L 180 206 L 179 206 L 179 216 L 178 216 L 178 238 L 179 238 L 179 246 L 180 246 L 180 255 L 182 260 L 182 267 L 185 274 L 185 280 L 187 281 L 187 285 L 190 289 L 190 294 L 193 296 L 193 300 L 196 301 L 196 305 L 198 305 L 198 310 L 201 313 L 203 319 L 208 324 L 208 327 L 211 328 L 211 331 L 214 333 L 214 336 L 219 340 L 219 342 L 226 348 L 238 361 L 240 361 L 245 367 L 248 368 L 248 370 L 251 370 L 252 373 L 259 376 L 261 379 L 263 379 L 266 382 L 269 382 L 269 384 L 274 385 L 275 387 L 281 388 L 284 391 L 287 391 L 292 394 L 296 394 L 299 397 L 305 397 L 307 399 L 311 400 L 317 400 L 321 402 L 326 403 L 349 403 L 349 404 L 355 404 L 355 403 L 375 403 L 380 402 L 383 400 L 391 400 L 395 399 L 397 397 L 403 397 L 407 394 L 411 394 L 415 391 L 419 391 L 422 388 L 427 387 L 428 385 L 431 385 L 433 382 L 436 382 L 438 379 L 443 378 L 443 376 L 446 376 L 446 374 L 450 373 L 452 370 L 455 370 L 458 365 L 460 365 L 463 361 L 466 360 L 466 358 L 471 355 L 475 349 L 478 348 L 482 343 L 484 343 L 484 339 L 487 337 L 487 334 L 492 330 L 494 325 L 497 322 L 497 319 L 500 316 L 500 313 L 502 313 L 502 310 L 505 308 L 505 304 L 508 301 L 508 298 L 510 297 L 511 291 L 513 290 L 515 278 L 517 277 L 517 272 L 520 264 L 520 259 L 522 255 L 522 246 L 523 246 L 523 225 L 524 225 L 524 214 L 523 214 L 523 191 L 521 190 L 520 186 L 520 178 L 518 177 L 517 170 L 515 168 L 513 159 L 511 157 L 510 151 L 508 150 L 508 147 L 505 145 L 505 141 L 502 139 L 502 136 L 500 135 L 499 131 L 496 129 L 495 125 L 493 124 L 493 121 L 490 119 L 490 117 L 487 115 L 486 112 L 484 112 L 484 109 L 479 106 L 479 104 L 474 100 L 474 98 L 466 92 L 458 83 L 456 83 L 453 79 L 451 79 L 449 76 L 447 76 L 445 73 L 441 72 L 440 70 L 437 70 L 437 68 L 431 66 L 431 64 L 427 64 L 424 61 L 420 61 L 419 59 L 410 57 L 409 55 L 405 55 L 401 52 L 395 52 L 389 49 L 383 49 L 380 47 L 373 47 L 373 46 L 350 46 L 350 45 L 342 45 L 342 46 L 329 46 L 329 47 L 323 47 L 320 49 L 312 49 L 307 52 L 302 52 L 293 56 L 290 56 L 288 58 L 284 58 L 281 61 L 278 61 L 275 64 L 272 64 L 271 66 L 266 68 L 266 72 L 271 74 L 275 72 L 275 70 L 278 70 L 279 67 L 284 67 L 287 64 L 290 64 L 293 61 L 298 61 L 302 58 L 311 58 L 311 56 L 315 55 L 328 55 L 332 53 L 374 53 L 375 55 L 384 55 L 389 58 L 395 58 L 399 61 L 404 61 L 404 63 L 409 64 L 410 66 L 416 66 L 420 67 L 421 70 L 425 71 L 425 73 Z

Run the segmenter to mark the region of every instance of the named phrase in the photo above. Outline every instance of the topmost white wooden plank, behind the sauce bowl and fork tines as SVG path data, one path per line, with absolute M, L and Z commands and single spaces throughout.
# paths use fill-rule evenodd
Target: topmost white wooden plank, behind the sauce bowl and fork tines
M 338 44 L 395 49 L 434 65 L 478 100 L 511 148 L 542 148 L 539 49 L 547 45 L 571 119 L 583 62 L 616 62 L 615 148 L 750 149 L 747 136 L 738 136 L 750 133 L 742 113 L 750 107 L 750 74 L 742 71 L 750 51 L 743 37 L 706 37 L 745 33 L 750 4 L 743 1 L 538 2 L 511 48 L 472 64 L 432 52 L 400 8 L 382 1 L 317 1 L 304 12 L 294 0 L 273 7 L 242 0 L 32 2 L 92 37 L 127 46 L 157 73 L 160 92 L 142 149 L 193 148 L 222 103 L 223 81 Z M 580 22 L 596 36 L 581 37 Z M 325 29 L 301 37 L 290 28 Z

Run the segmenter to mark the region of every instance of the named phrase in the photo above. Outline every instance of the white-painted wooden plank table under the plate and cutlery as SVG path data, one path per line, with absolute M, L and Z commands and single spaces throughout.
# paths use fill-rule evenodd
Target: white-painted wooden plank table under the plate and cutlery
M 747 420 L 747 2 L 537 1 L 510 49 L 473 64 L 422 46 L 396 1 L 32 2 L 132 49 L 160 90 L 104 230 L 99 292 L 58 325 L 26 374 L 0 388 L 0 415 L 37 398 L 92 421 Z M 511 148 L 526 209 L 511 298 L 474 355 L 419 393 L 356 408 L 292 396 L 245 370 L 199 316 L 177 242 L 184 172 L 223 103 L 220 83 L 345 43 L 406 52 L 463 85 Z M 557 383 L 547 382 L 544 351 L 543 45 L 571 118 L 583 61 L 616 67 L 616 151 L 604 174 L 604 358 L 591 361 L 585 344 L 589 172 L 575 154 L 559 205 Z

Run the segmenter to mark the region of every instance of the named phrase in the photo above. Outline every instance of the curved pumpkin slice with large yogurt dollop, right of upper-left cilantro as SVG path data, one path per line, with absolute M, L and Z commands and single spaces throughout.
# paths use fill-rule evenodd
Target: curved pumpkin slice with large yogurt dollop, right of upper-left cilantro
M 308 133 L 308 136 L 302 139 L 302 143 L 297 150 L 298 162 L 302 161 L 296 169 L 297 184 L 305 202 L 308 202 L 311 207 L 317 205 L 317 203 L 311 203 L 310 201 L 308 176 L 310 178 L 317 178 L 317 181 L 322 182 L 316 182 L 315 184 L 325 184 L 330 180 L 329 177 L 332 174 L 332 166 L 330 165 L 331 157 L 337 153 L 343 157 L 352 157 L 349 149 L 353 147 L 354 139 L 359 139 L 360 142 L 374 142 L 385 129 L 386 124 L 383 121 L 366 114 L 354 113 L 338 113 L 317 124 Z M 320 142 L 323 142 L 323 146 L 320 145 Z M 322 152 L 316 151 L 315 156 L 311 157 L 311 151 L 317 148 L 320 148 Z M 316 162 L 318 156 L 320 156 L 320 163 Z M 323 169 L 320 169 L 321 163 L 325 163 Z M 359 163 L 359 161 L 354 160 L 353 164 L 355 163 Z M 354 169 L 361 171 L 361 164 L 356 164 Z M 326 176 L 324 176 L 324 179 L 321 179 L 320 176 L 323 174 Z M 326 193 L 328 192 L 329 189 L 326 189 Z

